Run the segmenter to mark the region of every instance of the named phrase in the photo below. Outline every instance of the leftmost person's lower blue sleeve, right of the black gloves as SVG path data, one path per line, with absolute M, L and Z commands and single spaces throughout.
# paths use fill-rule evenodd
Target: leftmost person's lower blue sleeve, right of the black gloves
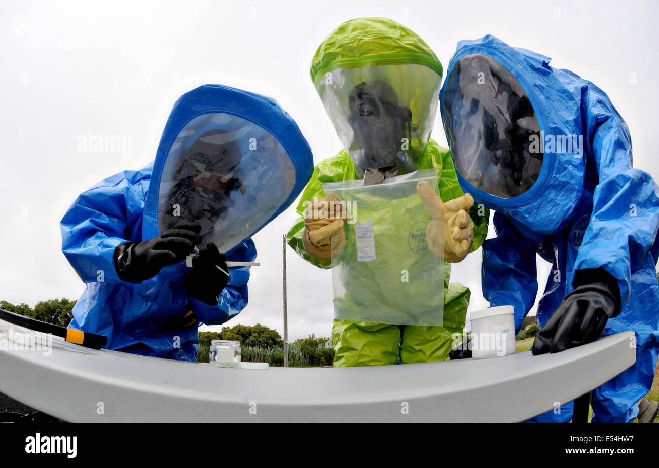
M 240 247 L 227 254 L 227 260 L 232 262 L 254 262 L 255 259 L 256 246 L 252 239 L 247 239 Z M 197 299 L 191 299 L 192 312 L 200 322 L 206 325 L 223 324 L 247 306 L 249 269 L 248 266 L 241 266 L 229 270 L 229 283 L 220 293 L 217 305 L 210 306 Z

